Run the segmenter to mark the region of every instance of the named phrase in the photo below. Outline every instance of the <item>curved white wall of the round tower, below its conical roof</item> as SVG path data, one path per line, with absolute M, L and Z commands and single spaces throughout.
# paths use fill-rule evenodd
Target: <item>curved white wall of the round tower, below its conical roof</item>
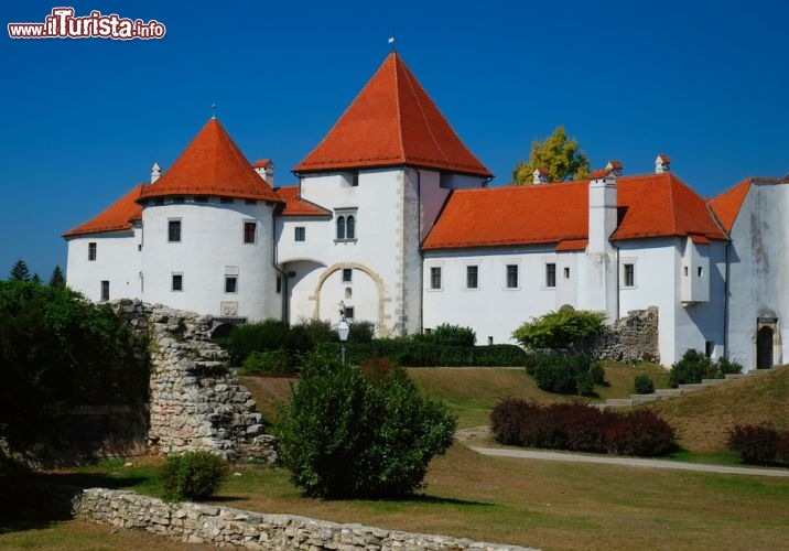
M 209 203 L 149 204 L 143 218 L 143 299 L 212 315 L 249 320 L 280 317 L 273 268 L 272 207 L 235 199 Z M 167 223 L 181 220 L 181 241 L 167 241 Z M 244 242 L 244 223 L 257 223 L 255 244 Z M 238 271 L 236 293 L 225 292 L 225 274 Z M 183 274 L 183 291 L 172 290 L 172 276 Z M 235 314 L 223 303 L 237 304 Z

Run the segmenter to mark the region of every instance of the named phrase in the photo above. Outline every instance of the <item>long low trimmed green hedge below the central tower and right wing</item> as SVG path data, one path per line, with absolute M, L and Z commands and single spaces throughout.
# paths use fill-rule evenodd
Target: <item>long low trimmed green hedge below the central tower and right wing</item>
M 323 355 L 339 355 L 339 343 L 316 347 Z M 370 358 L 389 358 L 403 367 L 501 367 L 526 366 L 526 353 L 517 345 L 450 346 L 408 337 L 379 338 L 370 343 L 345 343 L 345 357 L 359 365 Z

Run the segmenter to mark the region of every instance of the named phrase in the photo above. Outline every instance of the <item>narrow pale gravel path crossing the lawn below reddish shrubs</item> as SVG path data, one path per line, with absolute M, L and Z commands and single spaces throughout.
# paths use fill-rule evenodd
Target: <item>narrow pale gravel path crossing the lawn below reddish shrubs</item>
M 608 465 L 627 465 L 644 468 L 673 468 L 677 471 L 701 471 L 704 473 L 725 473 L 735 475 L 756 476 L 789 476 L 789 469 L 781 468 L 748 468 L 728 467 L 723 465 L 705 465 L 702 463 L 680 463 L 662 460 L 642 460 L 637 457 L 609 457 L 605 455 L 582 455 L 576 453 L 539 452 L 534 450 L 508 450 L 496 447 L 469 446 L 477 453 L 484 455 L 496 455 L 499 457 L 520 457 L 525 460 L 565 461 L 574 463 L 604 463 Z

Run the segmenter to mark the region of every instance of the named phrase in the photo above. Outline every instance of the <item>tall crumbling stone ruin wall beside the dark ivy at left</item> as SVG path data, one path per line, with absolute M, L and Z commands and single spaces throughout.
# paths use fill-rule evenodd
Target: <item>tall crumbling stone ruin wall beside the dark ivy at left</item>
M 251 393 L 227 353 L 210 342 L 212 316 L 132 300 L 114 306 L 150 339 L 150 452 L 204 450 L 229 461 L 275 461 L 273 436 Z

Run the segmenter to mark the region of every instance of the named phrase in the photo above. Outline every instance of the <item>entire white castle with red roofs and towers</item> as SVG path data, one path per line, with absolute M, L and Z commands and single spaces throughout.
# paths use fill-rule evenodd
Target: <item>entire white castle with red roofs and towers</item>
M 662 364 L 688 348 L 746 369 L 782 361 L 787 179 L 706 201 L 658 155 L 588 181 L 490 187 L 392 52 L 323 141 L 274 187 L 212 118 L 175 163 L 72 229 L 67 281 L 224 324 L 371 321 L 380 336 L 441 323 L 511 342 L 563 305 L 615 321 L 657 306 Z

